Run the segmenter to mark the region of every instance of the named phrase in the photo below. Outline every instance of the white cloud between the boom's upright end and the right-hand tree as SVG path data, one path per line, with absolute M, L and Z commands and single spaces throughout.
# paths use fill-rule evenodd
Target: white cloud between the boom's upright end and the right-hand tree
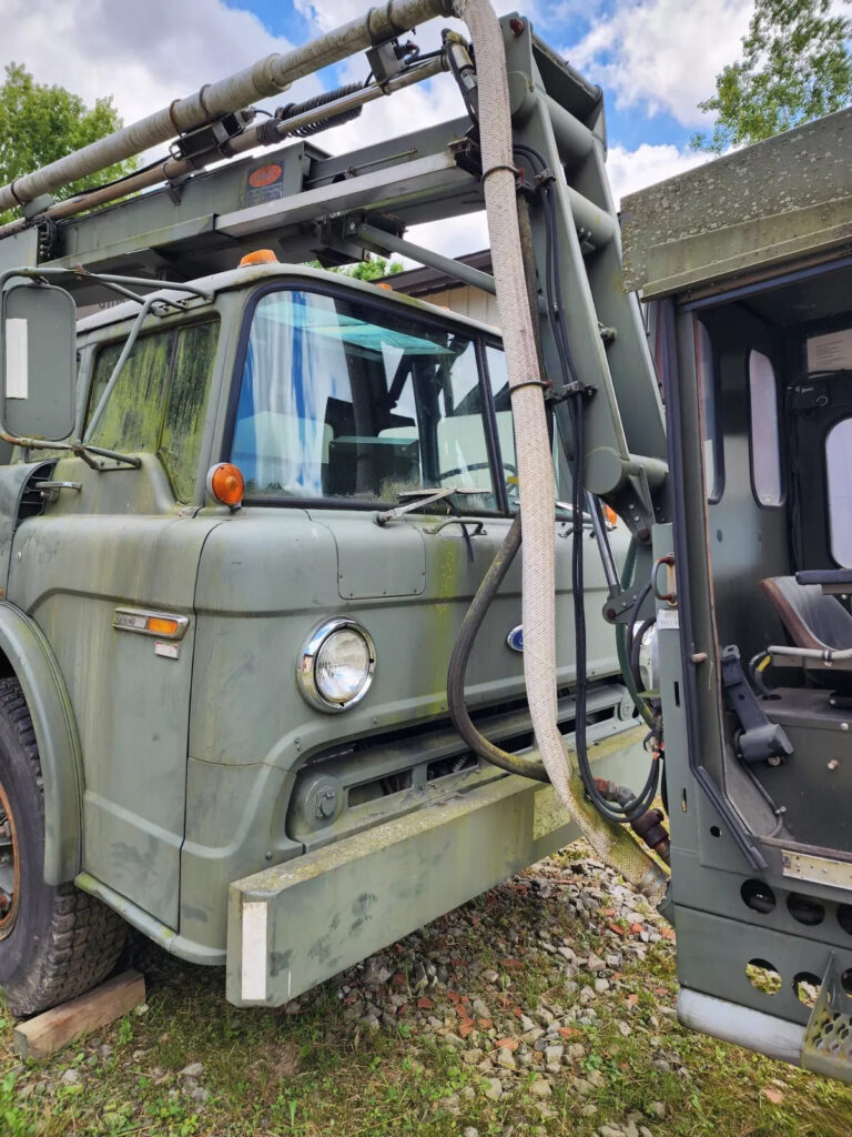
M 705 116 L 698 103 L 738 57 L 751 7 L 745 0 L 620 0 L 566 55 L 619 107 L 665 110 L 684 126 L 700 126 Z

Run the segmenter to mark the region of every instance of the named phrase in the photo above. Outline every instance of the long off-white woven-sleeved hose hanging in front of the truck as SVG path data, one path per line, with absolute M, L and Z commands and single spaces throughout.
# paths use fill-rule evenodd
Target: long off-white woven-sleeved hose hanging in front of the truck
M 582 779 L 559 732 L 556 488 L 518 227 L 503 35 L 488 0 L 456 0 L 454 10 L 470 30 L 476 51 L 485 208 L 509 373 L 524 517 L 524 674 L 533 730 L 550 781 L 583 836 L 625 879 L 651 898 L 658 898 L 668 882 L 666 873 L 625 829 L 607 823 L 585 799 Z

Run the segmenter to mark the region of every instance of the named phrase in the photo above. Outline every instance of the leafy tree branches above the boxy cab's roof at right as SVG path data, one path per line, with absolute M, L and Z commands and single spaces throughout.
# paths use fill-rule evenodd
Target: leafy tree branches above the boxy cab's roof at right
M 716 94 L 699 103 L 716 111 L 716 125 L 692 139 L 694 149 L 721 153 L 849 106 L 852 25 L 832 7 L 832 0 L 755 0 L 742 59 L 717 75 Z

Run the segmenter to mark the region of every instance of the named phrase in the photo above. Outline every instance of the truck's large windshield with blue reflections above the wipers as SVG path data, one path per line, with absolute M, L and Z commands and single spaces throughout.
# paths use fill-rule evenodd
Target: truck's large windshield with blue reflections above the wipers
M 466 511 L 494 509 L 475 343 L 342 296 L 267 293 L 231 460 L 250 497 L 394 501 L 458 485 L 482 489 Z

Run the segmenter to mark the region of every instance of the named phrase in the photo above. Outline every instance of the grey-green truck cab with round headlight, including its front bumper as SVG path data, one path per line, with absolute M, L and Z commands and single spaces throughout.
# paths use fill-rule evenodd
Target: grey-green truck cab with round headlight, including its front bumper
M 18 495 L 5 611 L 39 636 L 74 723 L 49 871 L 175 954 L 227 962 L 240 1005 L 294 997 L 576 832 L 550 787 L 483 762 L 448 715 L 452 645 L 517 512 L 499 333 L 264 259 L 83 318 L 85 447 L 18 447 L 0 468 Z M 629 782 L 645 730 L 579 523 L 590 742 Z M 566 623 L 571 528 L 559 505 Z M 609 538 L 621 562 L 625 526 Z M 516 570 L 466 694 L 524 753 L 520 624 Z M 570 739 L 567 641 L 557 679 Z M 268 952 L 243 915 L 259 888 Z

